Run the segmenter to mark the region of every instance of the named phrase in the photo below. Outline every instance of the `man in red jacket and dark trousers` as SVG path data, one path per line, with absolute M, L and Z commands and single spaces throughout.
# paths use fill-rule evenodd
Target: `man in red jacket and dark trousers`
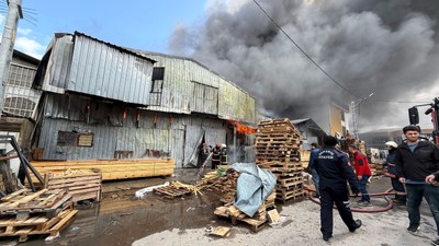
M 360 186 L 361 200 L 358 201 L 359 206 L 371 206 L 370 197 L 365 185 L 371 176 L 368 159 L 358 150 L 354 144 L 349 145 L 349 152 L 353 155 L 353 167 L 356 168 L 356 175 L 358 184 Z

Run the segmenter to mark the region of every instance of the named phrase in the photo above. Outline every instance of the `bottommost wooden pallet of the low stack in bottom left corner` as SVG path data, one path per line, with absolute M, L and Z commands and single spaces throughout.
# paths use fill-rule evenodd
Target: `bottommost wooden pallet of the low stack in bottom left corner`
M 0 221 L 0 237 L 19 236 L 19 242 L 25 242 L 31 235 L 55 236 L 75 219 L 78 210 L 69 209 L 49 220 L 41 216 L 25 221 L 2 220 Z

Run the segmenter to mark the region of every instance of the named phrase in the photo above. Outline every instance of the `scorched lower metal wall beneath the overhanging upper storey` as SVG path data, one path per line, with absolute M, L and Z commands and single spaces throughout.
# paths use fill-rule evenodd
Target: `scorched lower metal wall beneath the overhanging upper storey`
M 113 159 L 114 151 L 133 151 L 133 157 L 142 159 L 148 157 L 147 150 L 157 150 L 164 155 L 169 154 L 176 159 L 177 167 L 181 167 L 183 160 L 190 157 L 193 152 L 193 143 L 185 142 L 198 138 L 195 131 L 207 129 L 209 136 L 213 137 L 206 139 L 212 142 L 225 139 L 223 132 L 226 131 L 227 124 L 221 119 L 123 108 L 119 105 L 110 105 L 106 108 L 99 105 L 101 114 L 112 118 L 100 121 L 98 113 L 87 117 L 87 105 L 90 105 L 91 109 L 97 107 L 81 96 L 58 94 L 46 96 L 38 141 L 38 147 L 45 149 L 44 159 Z M 187 130 L 188 128 L 193 130 Z M 58 131 L 92 132 L 93 147 L 57 147 Z

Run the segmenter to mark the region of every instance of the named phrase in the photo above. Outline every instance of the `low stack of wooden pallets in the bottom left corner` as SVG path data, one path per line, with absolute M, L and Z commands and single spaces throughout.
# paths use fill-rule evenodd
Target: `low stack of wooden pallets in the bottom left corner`
M 31 235 L 55 236 L 77 212 L 66 190 L 27 194 L 22 189 L 0 200 L 0 237 L 19 236 L 20 242 L 25 242 Z

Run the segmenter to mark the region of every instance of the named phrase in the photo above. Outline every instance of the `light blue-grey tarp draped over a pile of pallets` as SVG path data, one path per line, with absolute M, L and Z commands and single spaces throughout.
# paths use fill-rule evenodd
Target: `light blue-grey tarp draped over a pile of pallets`
M 262 201 L 273 191 L 275 176 L 255 163 L 235 163 L 232 168 L 240 173 L 234 204 L 248 216 L 254 216 Z

